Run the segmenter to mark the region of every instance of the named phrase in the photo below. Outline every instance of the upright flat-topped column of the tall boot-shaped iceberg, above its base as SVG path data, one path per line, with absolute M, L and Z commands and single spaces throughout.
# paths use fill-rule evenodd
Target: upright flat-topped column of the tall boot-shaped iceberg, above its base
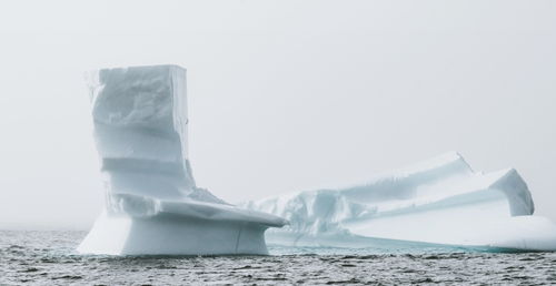
M 193 192 L 185 75 L 176 65 L 91 74 L 95 139 L 108 192 L 167 198 Z

